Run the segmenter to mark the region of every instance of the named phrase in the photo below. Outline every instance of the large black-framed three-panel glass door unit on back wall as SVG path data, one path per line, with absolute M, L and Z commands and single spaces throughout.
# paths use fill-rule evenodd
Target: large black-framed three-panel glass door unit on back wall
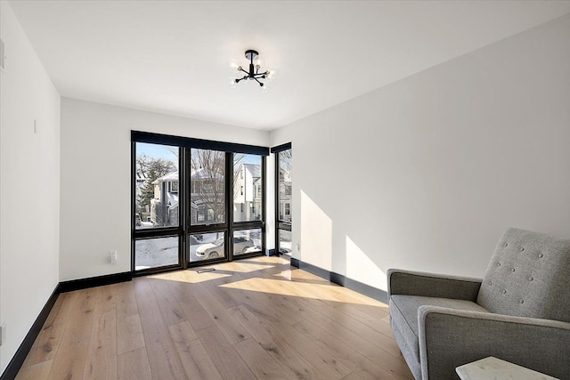
M 265 252 L 267 148 L 155 133 L 132 136 L 133 271 Z

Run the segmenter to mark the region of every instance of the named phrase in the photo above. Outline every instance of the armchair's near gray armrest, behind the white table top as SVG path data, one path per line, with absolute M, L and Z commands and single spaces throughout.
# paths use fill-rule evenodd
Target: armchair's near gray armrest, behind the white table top
M 423 379 L 457 378 L 455 368 L 488 356 L 570 378 L 570 323 L 420 306 Z

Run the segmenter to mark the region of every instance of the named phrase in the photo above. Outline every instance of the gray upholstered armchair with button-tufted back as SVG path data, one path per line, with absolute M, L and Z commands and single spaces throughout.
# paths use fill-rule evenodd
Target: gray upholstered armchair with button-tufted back
M 390 325 L 416 379 L 494 356 L 570 379 L 570 240 L 507 230 L 485 279 L 388 271 Z

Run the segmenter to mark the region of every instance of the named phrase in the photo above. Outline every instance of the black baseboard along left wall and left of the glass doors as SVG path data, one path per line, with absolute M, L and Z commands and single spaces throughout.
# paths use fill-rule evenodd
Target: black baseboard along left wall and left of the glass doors
M 40 311 L 36 321 L 30 327 L 28 334 L 18 347 L 16 353 L 10 360 L 8 366 L 4 369 L 4 373 L 0 376 L 0 380 L 12 380 L 18 375 L 21 365 L 28 356 L 29 350 L 36 342 L 36 338 L 44 327 L 45 319 L 52 311 L 53 304 L 61 293 L 71 292 L 73 290 L 86 289 L 87 287 L 101 287 L 102 285 L 117 284 L 118 282 L 130 281 L 133 279 L 133 274 L 130 271 L 124 273 L 108 274 L 106 276 L 92 277 L 90 279 L 72 279 L 70 281 L 60 282 L 53 290 L 52 295 L 48 298 L 44 308 Z

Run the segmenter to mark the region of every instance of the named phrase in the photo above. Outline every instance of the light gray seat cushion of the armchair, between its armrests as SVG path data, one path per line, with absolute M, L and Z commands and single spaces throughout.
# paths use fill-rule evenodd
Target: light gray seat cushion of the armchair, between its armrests
M 418 310 L 420 306 L 439 306 L 454 310 L 486 310 L 472 301 L 418 295 L 392 295 L 389 310 L 393 327 L 397 327 L 409 351 L 419 361 Z

